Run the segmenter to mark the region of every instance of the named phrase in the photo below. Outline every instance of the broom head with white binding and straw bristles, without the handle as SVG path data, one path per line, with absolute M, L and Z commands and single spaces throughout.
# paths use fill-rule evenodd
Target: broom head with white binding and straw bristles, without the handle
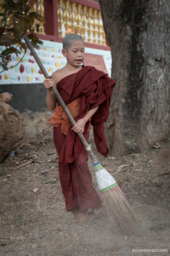
M 113 176 L 99 162 L 93 165 L 96 171 L 97 183 L 113 228 L 124 235 L 133 234 L 138 228 L 138 219 L 135 217 L 131 205 L 124 197 Z

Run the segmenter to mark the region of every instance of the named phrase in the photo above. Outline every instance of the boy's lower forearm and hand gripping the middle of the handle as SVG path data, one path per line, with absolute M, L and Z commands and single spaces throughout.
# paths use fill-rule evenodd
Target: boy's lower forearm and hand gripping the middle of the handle
M 91 109 L 86 113 L 86 116 L 84 116 L 84 118 L 77 120 L 75 126 L 72 127 L 72 130 L 75 131 L 77 134 L 79 132 L 84 132 L 84 126 L 86 125 L 86 122 L 94 115 L 98 108 L 98 106 L 94 107 L 94 109 Z

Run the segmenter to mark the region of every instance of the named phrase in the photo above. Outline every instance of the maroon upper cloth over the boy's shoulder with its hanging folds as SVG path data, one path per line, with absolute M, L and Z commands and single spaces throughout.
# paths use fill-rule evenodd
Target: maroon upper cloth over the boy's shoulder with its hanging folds
M 104 136 L 104 122 L 108 118 L 109 105 L 115 81 L 102 71 L 98 71 L 93 66 L 82 66 L 77 73 L 64 77 L 57 83 L 57 90 L 62 96 L 65 104 L 80 99 L 79 113 L 75 121 L 83 118 L 86 113 L 99 106 L 96 113 L 91 118 L 95 144 L 98 152 L 103 156 L 108 154 L 108 145 Z M 53 114 L 55 115 L 55 113 Z M 53 116 L 52 116 L 53 119 Z M 86 123 L 85 131 L 88 129 Z M 59 154 L 59 163 L 73 163 L 82 149 L 82 142 L 77 134 L 68 129 L 66 140 Z

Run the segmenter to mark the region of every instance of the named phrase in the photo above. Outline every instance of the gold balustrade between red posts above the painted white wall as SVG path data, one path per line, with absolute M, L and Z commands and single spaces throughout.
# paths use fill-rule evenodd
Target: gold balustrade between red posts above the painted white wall
M 2 3 L 2 0 L 0 0 L 0 3 Z M 57 0 L 59 37 L 64 37 L 68 33 L 77 33 L 77 35 L 82 36 L 84 42 L 106 46 L 100 10 L 89 8 L 86 6 L 86 1 L 82 1 L 82 3 L 75 3 L 74 0 Z M 35 4 L 31 6 L 31 11 L 37 11 L 40 15 L 44 16 L 44 0 L 35 1 Z M 39 24 L 38 33 L 44 35 L 44 24 L 37 20 L 31 29 L 35 31 L 36 24 Z

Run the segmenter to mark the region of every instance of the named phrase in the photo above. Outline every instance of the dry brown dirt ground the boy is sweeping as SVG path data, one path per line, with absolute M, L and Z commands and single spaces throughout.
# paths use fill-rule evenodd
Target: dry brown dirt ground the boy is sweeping
M 169 255 L 170 156 L 161 155 L 169 146 L 167 138 L 141 154 L 97 155 L 140 219 L 131 236 L 115 232 L 105 210 L 83 225 L 66 212 L 53 143 L 17 150 L 0 165 L 0 255 Z M 21 167 L 24 163 L 29 164 Z M 89 166 L 100 194 L 91 160 Z

